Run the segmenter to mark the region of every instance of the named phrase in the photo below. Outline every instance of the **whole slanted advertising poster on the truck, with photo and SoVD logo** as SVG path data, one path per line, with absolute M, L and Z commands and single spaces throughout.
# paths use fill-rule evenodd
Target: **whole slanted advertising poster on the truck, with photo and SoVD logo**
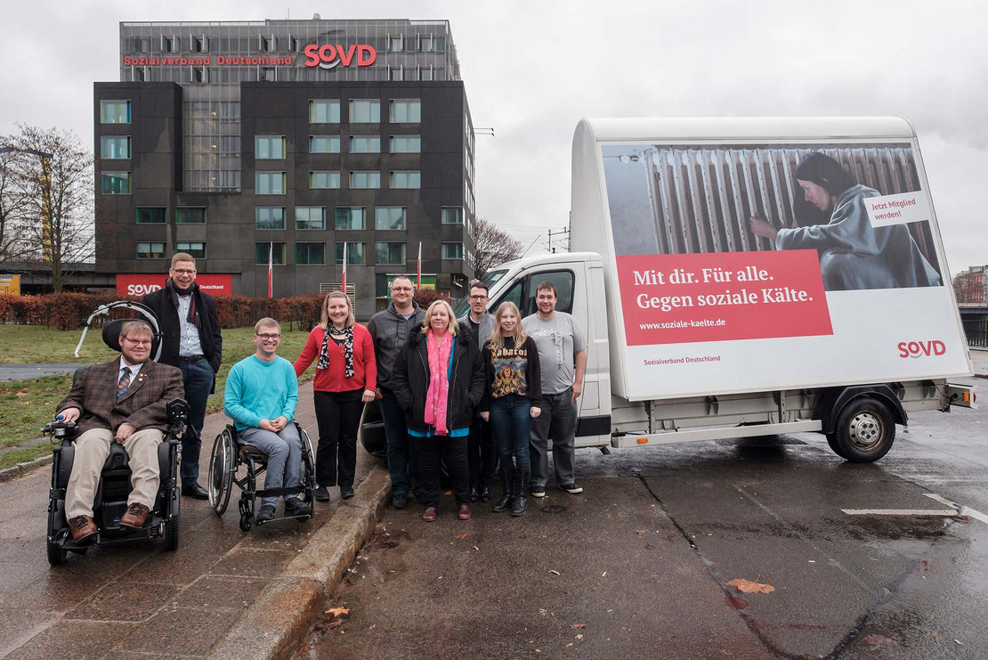
M 910 142 L 601 154 L 630 398 L 967 372 Z

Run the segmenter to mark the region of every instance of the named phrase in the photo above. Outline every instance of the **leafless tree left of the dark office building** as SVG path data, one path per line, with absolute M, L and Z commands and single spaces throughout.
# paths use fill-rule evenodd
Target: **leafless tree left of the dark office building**
M 49 267 L 58 293 L 71 267 L 94 254 L 93 154 L 73 132 L 19 127 L 8 146 L 16 149 L 10 170 L 20 196 L 18 232 L 28 247 L 21 258 Z

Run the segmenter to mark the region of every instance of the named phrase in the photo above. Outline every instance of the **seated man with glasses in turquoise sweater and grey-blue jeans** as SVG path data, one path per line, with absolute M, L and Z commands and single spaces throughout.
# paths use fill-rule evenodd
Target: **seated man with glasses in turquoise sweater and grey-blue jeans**
M 226 376 L 223 411 L 233 420 L 237 440 L 268 454 L 265 489 L 293 488 L 301 473 L 302 444 L 291 420 L 298 403 L 298 379 L 294 367 L 278 357 L 282 328 L 273 318 L 254 326 L 257 352 L 241 360 Z M 275 518 L 278 497 L 261 500 L 258 523 Z M 286 516 L 304 516 L 309 505 L 297 495 L 285 497 Z

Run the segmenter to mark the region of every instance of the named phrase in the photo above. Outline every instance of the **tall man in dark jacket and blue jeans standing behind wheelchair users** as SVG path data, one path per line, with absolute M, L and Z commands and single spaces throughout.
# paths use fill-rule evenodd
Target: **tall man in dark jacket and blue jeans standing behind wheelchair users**
M 151 308 L 161 326 L 163 365 L 178 367 L 185 381 L 189 424 L 182 438 L 182 494 L 198 500 L 209 495 L 199 484 L 200 434 L 206 421 L 206 401 L 213 391 L 223 354 L 219 318 L 212 296 L 196 284 L 196 259 L 185 252 L 172 257 L 164 289 L 141 300 Z

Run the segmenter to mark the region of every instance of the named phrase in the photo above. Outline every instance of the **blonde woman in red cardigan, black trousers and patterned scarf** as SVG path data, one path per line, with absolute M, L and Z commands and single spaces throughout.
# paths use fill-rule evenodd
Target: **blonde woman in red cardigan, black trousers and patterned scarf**
M 354 496 L 357 470 L 357 431 L 364 404 L 374 400 L 377 364 L 371 333 L 354 319 L 350 297 L 341 291 L 326 296 L 322 320 L 309 333 L 295 361 L 301 375 L 315 366 L 315 419 L 319 446 L 315 458 L 315 499 L 329 501 L 329 486 L 340 486 L 340 497 Z

